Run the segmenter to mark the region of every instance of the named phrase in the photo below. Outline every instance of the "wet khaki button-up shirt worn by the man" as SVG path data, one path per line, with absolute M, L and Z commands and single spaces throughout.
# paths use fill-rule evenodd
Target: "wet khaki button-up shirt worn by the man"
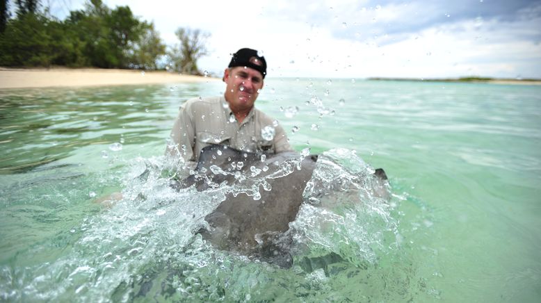
M 270 140 L 266 140 L 269 136 L 264 138 L 261 134 L 266 126 L 273 127 L 275 131 Z M 211 144 L 271 154 L 292 150 L 284 129 L 275 120 L 252 108 L 239 124 L 223 96 L 186 101 L 179 109 L 170 136 L 172 141 L 165 153 L 183 158 L 188 168 L 195 167 L 201 149 Z

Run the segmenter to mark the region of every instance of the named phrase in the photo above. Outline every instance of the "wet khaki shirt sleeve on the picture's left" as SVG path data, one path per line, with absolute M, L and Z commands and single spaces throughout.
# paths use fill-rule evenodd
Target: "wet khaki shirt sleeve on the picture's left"
M 179 108 L 179 115 L 175 119 L 170 133 L 170 142 L 165 149 L 165 155 L 172 156 L 175 160 L 181 158 L 188 168 L 195 167 L 193 146 L 195 145 L 195 126 L 191 115 L 191 103 L 186 101 Z

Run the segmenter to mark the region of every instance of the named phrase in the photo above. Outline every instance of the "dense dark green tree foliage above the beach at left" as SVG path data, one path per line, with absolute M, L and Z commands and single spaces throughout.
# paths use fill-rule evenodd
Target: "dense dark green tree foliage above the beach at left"
M 8 13 L 7 3 L 3 1 Z M 129 6 L 108 8 L 91 0 L 63 21 L 38 9 L 38 0 L 17 0 L 17 16 L 0 31 L 0 65 L 155 69 L 165 54 L 154 24 Z M 3 8 L 3 7 L 0 7 Z

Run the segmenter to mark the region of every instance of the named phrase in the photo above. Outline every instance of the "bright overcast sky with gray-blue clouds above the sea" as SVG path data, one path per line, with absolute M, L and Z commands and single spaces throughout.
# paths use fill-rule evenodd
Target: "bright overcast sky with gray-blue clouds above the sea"
M 63 19 L 84 0 L 43 0 Z M 154 22 L 211 33 L 201 69 L 221 73 L 242 47 L 263 51 L 269 76 L 541 79 L 541 0 L 104 0 Z

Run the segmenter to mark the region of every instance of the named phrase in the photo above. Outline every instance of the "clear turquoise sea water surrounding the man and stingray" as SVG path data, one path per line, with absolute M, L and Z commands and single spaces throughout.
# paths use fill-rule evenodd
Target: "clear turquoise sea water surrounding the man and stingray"
M 0 299 L 538 302 L 541 87 L 268 79 L 257 106 L 296 150 L 337 159 L 345 179 L 360 158 L 383 167 L 393 193 L 302 208 L 309 252 L 286 270 L 194 236 L 223 197 L 161 174 L 181 101 L 223 89 L 1 91 Z M 94 202 L 118 190 L 111 208 Z M 343 261 L 302 265 L 331 252 Z

